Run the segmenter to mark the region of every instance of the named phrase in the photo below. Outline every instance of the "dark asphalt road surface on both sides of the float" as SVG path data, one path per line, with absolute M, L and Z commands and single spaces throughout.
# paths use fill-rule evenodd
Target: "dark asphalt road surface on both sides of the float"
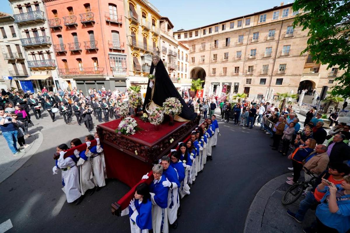
M 271 150 L 271 139 L 258 128 L 220 123 L 214 159 L 197 176 L 191 195 L 181 200 L 179 226 L 170 232 L 243 232 L 255 194 L 290 166 Z M 65 200 L 61 174 L 52 175 L 56 146 L 74 137 L 83 139 L 85 128 L 62 125 L 41 132 L 44 139 L 36 155 L 0 184 L 0 223 L 11 220 L 8 232 L 130 232 L 128 217 L 110 211 L 128 186 L 109 179 L 75 206 Z

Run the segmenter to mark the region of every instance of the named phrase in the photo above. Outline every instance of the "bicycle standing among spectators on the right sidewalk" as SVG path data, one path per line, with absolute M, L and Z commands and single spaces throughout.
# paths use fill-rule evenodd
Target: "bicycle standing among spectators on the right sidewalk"
M 311 176 L 311 179 L 309 181 L 299 181 L 293 184 L 292 186 L 290 186 L 282 196 L 281 201 L 283 205 L 290 205 L 296 202 L 296 200 L 299 199 L 299 197 L 301 196 L 301 194 L 305 189 L 307 189 L 310 185 L 314 186 L 317 176 L 311 173 L 310 170 L 307 169 L 306 167 L 303 167 L 303 168 L 306 174 Z

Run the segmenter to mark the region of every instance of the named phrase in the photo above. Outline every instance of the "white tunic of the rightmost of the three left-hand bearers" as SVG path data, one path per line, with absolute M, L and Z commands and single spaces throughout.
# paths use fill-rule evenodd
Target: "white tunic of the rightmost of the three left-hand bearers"
M 98 153 L 102 152 L 101 146 L 97 145 L 96 151 Z M 102 158 L 99 154 L 94 154 L 91 151 L 87 152 L 87 157 L 90 157 L 90 162 L 93 171 L 93 181 L 98 187 L 103 187 L 106 185 L 105 175 L 103 172 Z

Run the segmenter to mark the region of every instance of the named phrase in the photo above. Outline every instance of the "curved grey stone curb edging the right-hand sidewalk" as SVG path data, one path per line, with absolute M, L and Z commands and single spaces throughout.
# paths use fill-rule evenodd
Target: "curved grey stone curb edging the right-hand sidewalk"
M 255 195 L 252 204 L 249 206 L 247 218 L 244 223 L 244 233 L 259 233 L 261 232 L 262 217 L 265 213 L 267 201 L 277 188 L 286 182 L 287 174 L 280 175 L 260 188 Z

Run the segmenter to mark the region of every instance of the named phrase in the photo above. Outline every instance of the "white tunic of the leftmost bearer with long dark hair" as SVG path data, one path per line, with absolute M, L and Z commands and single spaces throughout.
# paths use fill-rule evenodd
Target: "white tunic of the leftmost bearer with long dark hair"
M 69 168 L 66 171 L 62 170 L 62 179 L 64 182 L 64 193 L 67 197 L 67 202 L 71 203 L 77 200 L 82 194 L 80 193 L 79 171 L 72 158 L 63 158 L 64 154 L 60 155 L 57 160 L 59 168 Z

